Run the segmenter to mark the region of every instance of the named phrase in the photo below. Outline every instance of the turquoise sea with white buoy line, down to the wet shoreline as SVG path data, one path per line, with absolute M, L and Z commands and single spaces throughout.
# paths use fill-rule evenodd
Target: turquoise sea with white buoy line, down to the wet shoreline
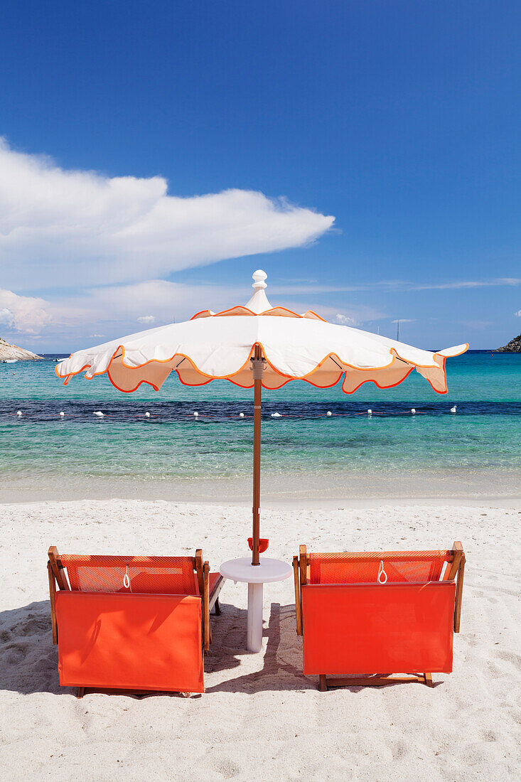
M 55 367 L 0 364 L 0 500 L 249 497 L 253 392 L 171 375 L 159 393 L 124 395 L 106 377 L 63 386 Z M 264 496 L 521 495 L 521 354 L 465 353 L 447 375 L 446 396 L 415 372 L 352 396 L 304 382 L 263 392 Z

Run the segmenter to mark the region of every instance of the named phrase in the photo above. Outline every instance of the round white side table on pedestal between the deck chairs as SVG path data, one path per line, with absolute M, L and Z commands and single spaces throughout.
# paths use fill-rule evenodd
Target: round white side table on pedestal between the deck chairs
M 250 557 L 228 559 L 220 567 L 221 576 L 248 584 L 248 651 L 262 649 L 262 586 L 271 581 L 288 579 L 293 572 L 291 565 L 280 559 L 260 557 L 260 565 L 252 565 Z

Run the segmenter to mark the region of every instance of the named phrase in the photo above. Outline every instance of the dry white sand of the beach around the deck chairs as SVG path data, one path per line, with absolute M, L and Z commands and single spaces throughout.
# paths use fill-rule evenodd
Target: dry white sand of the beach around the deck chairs
M 264 589 L 245 651 L 246 587 L 227 582 L 203 696 L 87 694 L 58 684 L 46 551 L 245 554 L 241 506 L 138 500 L 0 505 L 0 762 L 8 780 L 519 779 L 521 505 L 264 511 L 269 554 L 448 547 L 467 554 L 454 673 L 437 686 L 320 693 L 302 674 L 292 580 Z

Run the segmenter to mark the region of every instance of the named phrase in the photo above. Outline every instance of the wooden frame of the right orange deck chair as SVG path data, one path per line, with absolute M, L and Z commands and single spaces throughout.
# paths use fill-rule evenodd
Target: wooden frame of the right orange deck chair
M 310 580 L 311 559 L 307 554 L 304 545 L 299 547 L 299 556 L 293 557 L 293 581 L 295 585 L 295 613 L 296 613 L 296 634 L 304 635 L 304 617 L 302 612 L 302 587 Z M 456 579 L 456 597 L 454 610 L 454 632 L 459 633 L 459 627 L 462 615 L 462 597 L 463 597 L 463 575 L 465 572 L 465 552 L 462 543 L 455 540 L 449 553 L 447 568 L 445 569 L 442 580 L 452 581 Z M 319 676 L 319 687 L 325 692 L 328 687 L 377 687 L 390 683 L 421 682 L 428 687 L 433 687 L 433 677 L 431 673 L 418 673 L 411 676 L 389 676 L 386 674 L 376 674 L 366 677 L 326 677 L 325 674 Z

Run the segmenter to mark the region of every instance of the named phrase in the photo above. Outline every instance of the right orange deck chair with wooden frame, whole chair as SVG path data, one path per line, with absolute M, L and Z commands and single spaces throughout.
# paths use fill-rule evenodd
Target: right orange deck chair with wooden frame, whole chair
M 450 551 L 343 554 L 307 554 L 300 546 L 293 569 L 304 673 L 319 676 L 322 691 L 406 681 L 433 687 L 434 672 L 451 673 L 461 543 Z

